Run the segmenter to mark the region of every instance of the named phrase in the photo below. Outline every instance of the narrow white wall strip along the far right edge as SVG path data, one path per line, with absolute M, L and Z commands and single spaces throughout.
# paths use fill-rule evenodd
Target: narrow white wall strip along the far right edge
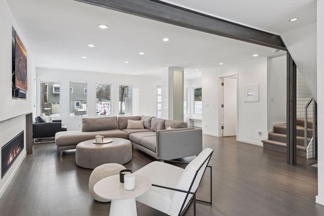
M 317 183 L 316 202 L 324 205 L 324 1 L 317 1 Z

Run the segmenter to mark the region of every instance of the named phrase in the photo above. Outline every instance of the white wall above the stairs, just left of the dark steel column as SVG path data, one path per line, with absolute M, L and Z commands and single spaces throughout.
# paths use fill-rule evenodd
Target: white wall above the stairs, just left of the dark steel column
M 268 58 L 268 131 L 272 131 L 272 124 L 287 121 L 286 67 L 287 56 Z M 271 100 L 271 97 L 273 100 Z

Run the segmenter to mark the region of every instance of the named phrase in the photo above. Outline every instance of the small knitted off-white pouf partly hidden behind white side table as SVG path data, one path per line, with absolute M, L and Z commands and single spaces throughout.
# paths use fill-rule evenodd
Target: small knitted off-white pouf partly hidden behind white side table
M 126 169 L 125 166 L 120 165 L 118 163 L 106 163 L 96 167 L 89 178 L 89 192 L 93 196 L 93 198 L 99 202 L 110 202 L 109 199 L 103 199 L 97 196 L 94 192 L 93 187 L 100 180 L 108 177 L 119 174 L 120 170 Z

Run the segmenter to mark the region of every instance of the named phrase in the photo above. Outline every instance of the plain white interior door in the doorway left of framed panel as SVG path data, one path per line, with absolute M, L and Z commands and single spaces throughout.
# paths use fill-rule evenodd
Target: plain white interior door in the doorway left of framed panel
M 236 76 L 224 77 L 223 136 L 236 136 Z

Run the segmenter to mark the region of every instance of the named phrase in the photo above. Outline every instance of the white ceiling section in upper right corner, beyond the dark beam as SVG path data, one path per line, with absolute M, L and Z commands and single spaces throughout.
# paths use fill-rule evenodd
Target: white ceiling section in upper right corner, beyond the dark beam
M 316 22 L 316 0 L 162 1 L 278 35 Z

